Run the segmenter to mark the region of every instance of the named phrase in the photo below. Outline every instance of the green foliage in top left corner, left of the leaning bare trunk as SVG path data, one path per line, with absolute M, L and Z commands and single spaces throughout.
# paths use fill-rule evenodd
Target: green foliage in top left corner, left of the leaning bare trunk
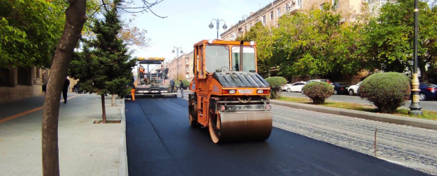
M 62 34 L 64 16 L 58 1 L 0 1 L 0 67 L 48 68 Z

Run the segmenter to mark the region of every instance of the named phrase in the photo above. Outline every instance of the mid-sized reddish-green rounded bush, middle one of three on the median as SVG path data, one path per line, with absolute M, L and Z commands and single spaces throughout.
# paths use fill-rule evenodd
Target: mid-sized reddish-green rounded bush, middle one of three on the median
M 334 87 L 327 82 L 310 82 L 302 88 L 302 91 L 313 103 L 321 104 L 332 95 Z

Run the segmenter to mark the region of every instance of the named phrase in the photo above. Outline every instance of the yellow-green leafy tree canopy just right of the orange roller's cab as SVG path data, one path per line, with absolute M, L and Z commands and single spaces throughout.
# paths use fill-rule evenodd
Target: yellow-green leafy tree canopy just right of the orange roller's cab
M 341 18 L 331 4 L 279 18 L 272 63 L 279 65 L 281 75 L 356 74 L 356 28 L 342 25 Z

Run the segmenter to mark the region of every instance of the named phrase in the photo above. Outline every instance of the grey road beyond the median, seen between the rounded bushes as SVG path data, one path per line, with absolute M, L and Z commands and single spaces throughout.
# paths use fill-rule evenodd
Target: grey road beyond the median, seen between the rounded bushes
M 281 95 L 283 96 L 293 96 L 293 97 L 306 97 L 301 92 L 281 92 Z M 350 95 L 332 95 L 328 100 L 334 100 L 334 101 L 344 101 L 344 102 L 350 102 L 350 103 L 363 103 L 368 105 L 373 105 L 370 101 L 367 101 L 367 99 L 361 99 L 359 96 L 350 96 Z M 401 106 L 401 108 L 407 108 L 409 109 L 409 106 L 411 104 L 411 101 L 407 101 L 404 105 Z M 420 101 L 420 106 L 422 110 L 431 110 L 431 111 L 437 111 L 437 101 L 433 100 L 426 100 L 426 101 Z

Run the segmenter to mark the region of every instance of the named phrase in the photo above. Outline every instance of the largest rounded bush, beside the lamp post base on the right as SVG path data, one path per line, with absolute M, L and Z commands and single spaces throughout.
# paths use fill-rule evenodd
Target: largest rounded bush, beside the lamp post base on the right
M 380 113 L 394 113 L 409 99 L 409 83 L 402 73 L 375 73 L 361 82 L 359 96 L 372 101 Z

